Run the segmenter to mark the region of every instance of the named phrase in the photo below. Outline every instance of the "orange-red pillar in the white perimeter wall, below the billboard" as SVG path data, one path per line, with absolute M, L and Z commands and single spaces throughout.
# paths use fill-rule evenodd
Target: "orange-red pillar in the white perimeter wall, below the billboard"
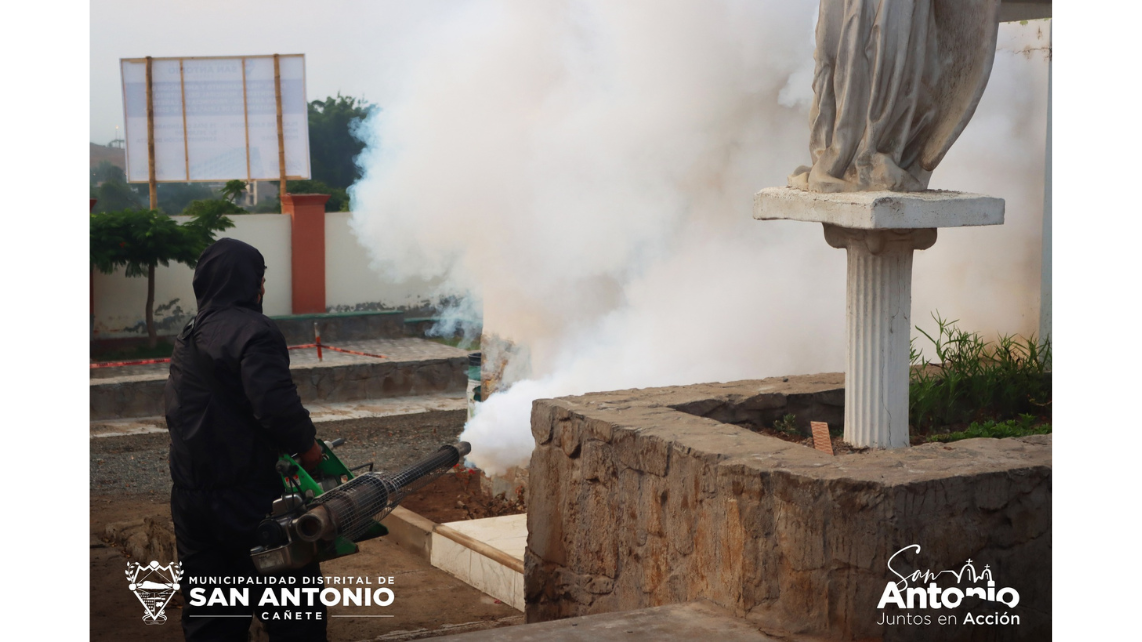
M 325 311 L 325 201 L 329 194 L 284 194 L 291 220 L 293 314 Z

